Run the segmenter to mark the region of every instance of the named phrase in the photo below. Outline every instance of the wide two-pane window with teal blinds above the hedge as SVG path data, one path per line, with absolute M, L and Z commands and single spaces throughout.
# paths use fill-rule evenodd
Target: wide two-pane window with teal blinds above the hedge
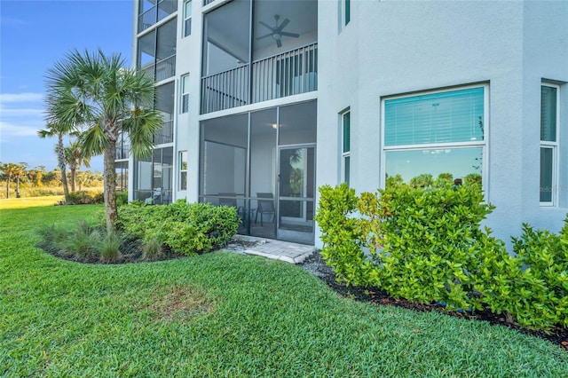
M 485 85 L 384 99 L 385 184 L 480 185 L 486 104 Z

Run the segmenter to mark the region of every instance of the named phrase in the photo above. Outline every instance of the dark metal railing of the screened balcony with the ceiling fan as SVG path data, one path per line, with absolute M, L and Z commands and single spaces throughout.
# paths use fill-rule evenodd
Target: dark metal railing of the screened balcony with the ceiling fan
M 201 79 L 201 114 L 318 89 L 318 43 Z M 252 85 L 252 94 L 250 93 Z M 250 98 L 252 96 L 252 98 Z

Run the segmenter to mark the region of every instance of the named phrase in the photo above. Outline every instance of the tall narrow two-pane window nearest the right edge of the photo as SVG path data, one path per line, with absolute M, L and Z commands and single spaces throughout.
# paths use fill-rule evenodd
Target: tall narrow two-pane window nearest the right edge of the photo
M 558 149 L 558 86 L 540 87 L 540 205 L 556 204 Z

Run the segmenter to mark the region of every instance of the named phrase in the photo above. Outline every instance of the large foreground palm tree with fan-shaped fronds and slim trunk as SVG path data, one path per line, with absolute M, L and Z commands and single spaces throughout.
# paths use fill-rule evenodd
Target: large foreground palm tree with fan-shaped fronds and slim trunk
M 106 227 L 118 217 L 114 151 L 121 132 L 130 139 L 130 153 L 143 158 L 152 152 L 154 133 L 162 128 L 155 111 L 154 79 L 143 71 L 124 68 L 120 54 L 103 51 L 69 52 L 48 70 L 47 118 L 83 130 L 81 148 L 103 154 Z

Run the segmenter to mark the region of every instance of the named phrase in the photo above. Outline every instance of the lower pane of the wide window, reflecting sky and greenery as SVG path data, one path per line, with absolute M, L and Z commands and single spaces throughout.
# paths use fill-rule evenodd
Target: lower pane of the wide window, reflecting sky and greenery
M 437 180 L 480 183 L 483 147 L 426 148 L 420 150 L 388 151 L 386 153 L 387 183 L 392 177 L 419 186 L 433 187 Z

